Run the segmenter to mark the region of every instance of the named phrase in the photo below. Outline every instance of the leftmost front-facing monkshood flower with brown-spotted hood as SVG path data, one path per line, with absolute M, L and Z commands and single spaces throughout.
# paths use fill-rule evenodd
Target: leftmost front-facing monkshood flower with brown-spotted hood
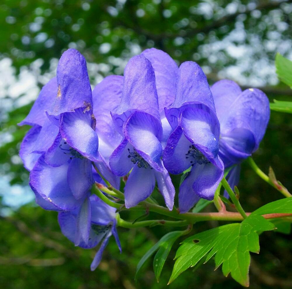
M 74 210 L 84 201 L 94 182 L 91 162 L 95 162 L 113 186 L 119 187 L 119 181 L 98 152 L 86 61 L 77 50 L 68 49 L 63 53 L 58 63 L 57 83 L 52 82 L 53 84 L 53 98 L 52 94 L 46 93 L 50 101 L 44 101 L 40 97 L 36 101 L 36 104 L 40 104 L 37 108 L 42 113 L 46 110 L 45 123 L 54 128 L 53 133 L 48 126 L 43 125 L 41 128 L 41 131 L 50 136 L 50 141 L 41 138 L 41 131 L 38 139 L 46 148 L 35 149 L 36 137 L 32 133 L 29 133 L 29 141 L 27 138 L 24 140 L 27 148 L 33 146 L 33 150 L 29 148 L 31 153 L 41 153 L 30 173 L 30 186 L 36 195 L 36 202 L 44 209 Z M 48 105 L 50 103 L 51 106 Z

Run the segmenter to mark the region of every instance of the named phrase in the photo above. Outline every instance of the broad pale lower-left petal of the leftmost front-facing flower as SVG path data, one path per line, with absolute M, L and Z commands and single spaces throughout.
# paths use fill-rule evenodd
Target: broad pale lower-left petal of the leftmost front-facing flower
M 51 167 L 46 164 L 42 155 L 29 175 L 32 190 L 62 210 L 74 210 L 83 202 L 82 199 L 76 200 L 69 188 L 68 167 L 68 163 Z

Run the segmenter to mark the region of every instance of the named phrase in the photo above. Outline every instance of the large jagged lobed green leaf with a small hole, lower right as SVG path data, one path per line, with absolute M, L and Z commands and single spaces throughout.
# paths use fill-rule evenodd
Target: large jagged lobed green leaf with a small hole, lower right
M 248 286 L 249 252 L 260 250 L 257 232 L 273 229 L 274 225 L 262 216 L 250 216 L 241 223 L 220 226 L 187 238 L 176 252 L 169 283 L 208 254 L 205 262 L 215 255 L 216 268 L 222 264 L 225 276 L 231 273 L 234 280 Z

